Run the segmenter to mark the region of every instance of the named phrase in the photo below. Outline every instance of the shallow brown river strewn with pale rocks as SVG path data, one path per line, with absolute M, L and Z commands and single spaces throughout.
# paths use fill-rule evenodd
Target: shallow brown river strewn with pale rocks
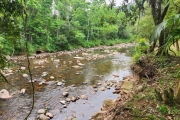
M 52 120 L 74 117 L 77 120 L 90 119 L 93 113 L 101 109 L 105 99 L 116 99 L 119 96 L 112 93 L 114 87 L 107 87 L 107 83 L 120 81 L 131 74 L 132 58 L 128 54 L 134 51 L 132 46 L 132 43 L 120 44 L 73 52 L 44 53 L 31 57 L 31 70 L 35 81 L 35 107 L 28 120 L 37 119 L 38 109 L 47 109 L 53 113 Z M 15 87 L 6 83 L 0 84 L 0 89 L 7 89 L 15 94 L 11 99 L 0 99 L 1 120 L 23 120 L 32 104 L 27 61 L 14 59 L 14 62 L 21 66 L 14 65 L 4 73 Z M 99 88 L 103 86 L 105 90 L 100 90 Z M 26 89 L 26 93 L 20 94 L 19 91 L 23 88 Z M 68 97 L 62 96 L 65 91 L 69 93 Z M 88 96 L 88 100 L 78 99 L 76 102 L 67 102 L 67 107 L 60 103 L 60 100 L 74 96 L 78 98 L 81 95 Z

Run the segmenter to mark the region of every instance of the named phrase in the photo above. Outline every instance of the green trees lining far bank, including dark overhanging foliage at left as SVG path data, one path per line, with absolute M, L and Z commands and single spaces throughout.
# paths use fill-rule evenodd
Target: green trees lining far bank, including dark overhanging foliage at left
M 117 13 L 118 8 L 104 0 L 15 0 L 0 4 L 0 45 L 9 55 L 23 52 L 26 40 L 33 53 L 114 45 L 132 36 L 124 24 L 124 12 Z M 26 17 L 25 37 L 22 14 Z

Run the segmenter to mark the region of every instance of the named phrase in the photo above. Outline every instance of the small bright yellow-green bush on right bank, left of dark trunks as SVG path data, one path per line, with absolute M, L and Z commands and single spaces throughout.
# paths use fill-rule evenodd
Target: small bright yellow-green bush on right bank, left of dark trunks
M 138 59 L 142 54 L 147 53 L 149 49 L 148 39 L 141 38 L 138 41 L 138 45 L 136 46 L 136 54 L 134 54 L 133 59 L 135 62 L 138 62 Z

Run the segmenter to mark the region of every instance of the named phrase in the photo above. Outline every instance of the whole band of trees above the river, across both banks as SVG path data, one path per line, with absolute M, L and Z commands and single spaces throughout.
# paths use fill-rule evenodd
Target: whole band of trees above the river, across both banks
M 0 50 L 6 55 L 21 54 L 27 41 L 30 53 L 54 52 L 114 45 L 138 35 L 139 42 L 149 43 L 150 52 L 158 44 L 157 53 L 167 55 L 170 46 L 178 43 L 178 5 L 178 0 L 124 0 L 121 5 L 114 0 L 108 4 L 105 0 L 4 0 Z

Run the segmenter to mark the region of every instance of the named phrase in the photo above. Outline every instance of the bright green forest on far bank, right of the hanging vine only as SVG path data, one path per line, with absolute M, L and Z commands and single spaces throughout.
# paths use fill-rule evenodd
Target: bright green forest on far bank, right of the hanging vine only
M 27 39 L 48 52 L 94 47 L 100 43 L 114 45 L 117 42 L 113 39 L 119 37 L 118 26 L 123 24 L 121 18 L 125 18 L 122 12 L 116 13 L 116 8 L 108 9 L 104 2 L 98 1 L 55 1 L 53 4 L 47 0 L 28 1 L 27 8 Z M 124 29 L 119 31 L 122 38 L 129 32 Z

